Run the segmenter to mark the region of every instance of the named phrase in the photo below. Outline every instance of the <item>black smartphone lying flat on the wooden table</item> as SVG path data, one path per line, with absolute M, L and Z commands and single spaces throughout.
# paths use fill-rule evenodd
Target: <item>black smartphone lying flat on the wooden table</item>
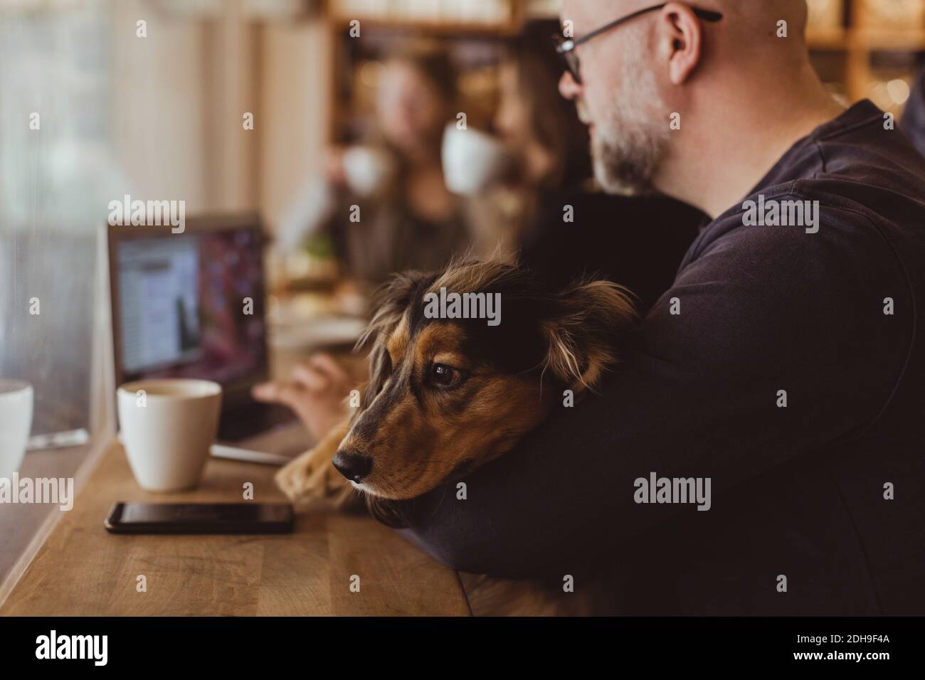
M 287 503 L 116 503 L 104 523 L 113 534 L 289 534 Z

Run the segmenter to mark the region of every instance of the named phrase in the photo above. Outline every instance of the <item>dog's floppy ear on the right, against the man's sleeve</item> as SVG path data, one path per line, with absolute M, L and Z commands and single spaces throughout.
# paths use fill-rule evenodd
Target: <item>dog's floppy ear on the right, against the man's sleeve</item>
M 542 325 L 546 367 L 569 389 L 595 389 L 620 361 L 622 342 L 635 327 L 631 295 L 610 281 L 577 283 L 559 294 Z

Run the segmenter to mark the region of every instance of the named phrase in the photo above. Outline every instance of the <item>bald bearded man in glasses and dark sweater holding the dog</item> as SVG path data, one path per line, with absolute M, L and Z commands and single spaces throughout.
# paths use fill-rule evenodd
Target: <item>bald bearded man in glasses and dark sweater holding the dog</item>
M 602 393 L 408 531 L 464 571 L 610 575 L 613 613 L 925 613 L 925 159 L 833 102 L 804 0 L 696 1 L 582 41 L 648 3 L 565 0 L 561 93 L 604 186 L 713 221 Z

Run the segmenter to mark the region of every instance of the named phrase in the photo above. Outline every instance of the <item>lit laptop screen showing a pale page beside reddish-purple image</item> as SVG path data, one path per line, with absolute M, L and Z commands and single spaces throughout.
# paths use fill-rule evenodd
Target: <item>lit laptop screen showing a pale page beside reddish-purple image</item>
M 197 377 L 224 387 L 265 376 L 259 227 L 114 242 L 117 369 L 123 380 Z

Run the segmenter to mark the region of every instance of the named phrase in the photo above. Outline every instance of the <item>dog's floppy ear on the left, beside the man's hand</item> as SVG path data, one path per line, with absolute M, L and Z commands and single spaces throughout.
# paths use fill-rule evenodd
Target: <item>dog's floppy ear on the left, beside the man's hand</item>
M 413 297 L 433 281 L 435 275 L 418 271 L 394 274 L 373 296 L 373 317 L 357 340 L 354 352 L 369 348 L 369 382 L 363 390 L 362 407 L 365 409 L 382 389 L 390 372 L 386 340 L 399 325 Z M 357 412 L 359 413 L 359 412 Z

